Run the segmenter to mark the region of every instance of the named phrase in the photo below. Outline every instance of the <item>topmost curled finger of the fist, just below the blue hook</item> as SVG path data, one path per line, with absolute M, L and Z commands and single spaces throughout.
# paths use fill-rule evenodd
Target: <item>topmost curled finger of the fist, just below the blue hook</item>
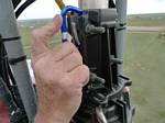
M 56 46 L 53 51 L 53 57 L 56 62 L 62 60 L 63 58 L 67 57 L 72 53 L 78 53 L 78 49 L 73 43 L 66 42 L 58 46 Z

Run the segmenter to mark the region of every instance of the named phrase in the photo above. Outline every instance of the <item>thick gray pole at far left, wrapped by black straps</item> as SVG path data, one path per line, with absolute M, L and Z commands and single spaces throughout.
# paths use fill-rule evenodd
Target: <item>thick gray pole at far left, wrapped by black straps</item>
M 0 35 L 2 38 L 19 36 L 11 0 L 0 0 Z M 20 40 L 4 42 L 4 46 L 9 59 L 24 55 Z M 26 62 L 22 60 L 16 63 L 15 65 L 12 65 L 11 68 L 16 80 L 29 121 L 32 123 L 36 112 L 36 96 L 32 86 Z

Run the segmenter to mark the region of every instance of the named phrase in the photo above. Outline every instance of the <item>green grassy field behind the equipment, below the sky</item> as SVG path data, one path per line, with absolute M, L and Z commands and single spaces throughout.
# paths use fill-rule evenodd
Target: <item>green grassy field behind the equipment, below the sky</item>
M 165 18 L 165 15 L 162 18 Z M 132 20 L 135 19 L 132 18 Z M 145 20 L 147 19 L 136 22 L 135 25 L 145 25 Z M 35 20 L 26 22 L 24 26 L 20 26 L 20 33 L 28 56 L 30 56 L 30 31 L 35 25 L 30 23 L 34 22 Z M 157 25 L 164 25 L 163 22 L 165 22 L 165 19 L 160 21 Z M 134 22 L 129 22 L 130 25 L 131 23 Z M 156 25 L 157 22 L 154 23 Z M 37 23 L 36 25 L 40 26 L 42 24 Z M 52 41 L 59 41 L 59 34 L 57 34 Z M 136 107 L 135 123 L 165 123 L 164 63 L 165 37 L 160 36 L 160 32 L 128 32 L 124 52 L 124 74 L 133 80 L 131 99 L 132 104 Z

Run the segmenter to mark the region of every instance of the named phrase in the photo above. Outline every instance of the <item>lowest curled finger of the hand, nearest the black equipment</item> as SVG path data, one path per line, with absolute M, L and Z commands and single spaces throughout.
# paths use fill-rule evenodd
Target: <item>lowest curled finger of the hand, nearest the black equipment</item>
M 89 81 L 89 68 L 81 65 L 70 71 L 69 76 L 73 82 L 80 82 L 82 86 L 86 86 Z

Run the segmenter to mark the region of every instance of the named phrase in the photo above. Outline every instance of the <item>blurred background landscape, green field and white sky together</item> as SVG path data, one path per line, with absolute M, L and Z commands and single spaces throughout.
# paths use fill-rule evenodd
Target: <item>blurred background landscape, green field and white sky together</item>
M 124 74 L 132 81 L 135 123 L 165 122 L 165 0 L 128 0 Z M 64 0 L 77 5 L 77 0 Z M 30 58 L 30 32 L 52 21 L 59 9 L 54 0 L 37 0 L 19 18 L 24 51 Z M 56 34 L 50 46 L 61 41 Z

